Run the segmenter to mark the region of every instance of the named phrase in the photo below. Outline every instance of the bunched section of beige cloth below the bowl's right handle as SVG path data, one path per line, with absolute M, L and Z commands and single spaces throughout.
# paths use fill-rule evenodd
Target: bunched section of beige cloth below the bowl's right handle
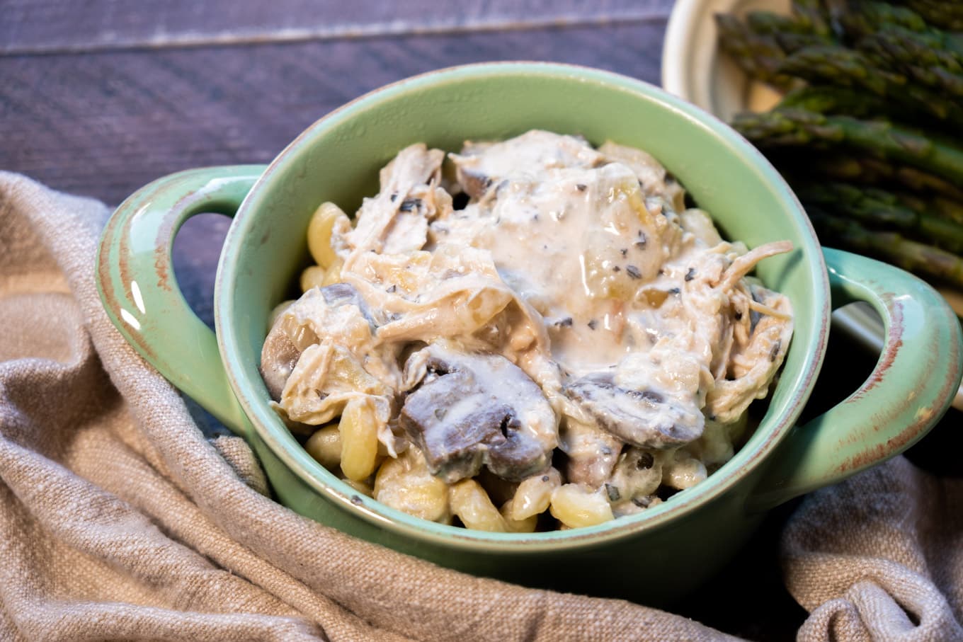
M 963 641 L 963 479 L 896 457 L 806 498 L 784 577 L 811 612 L 800 642 Z

